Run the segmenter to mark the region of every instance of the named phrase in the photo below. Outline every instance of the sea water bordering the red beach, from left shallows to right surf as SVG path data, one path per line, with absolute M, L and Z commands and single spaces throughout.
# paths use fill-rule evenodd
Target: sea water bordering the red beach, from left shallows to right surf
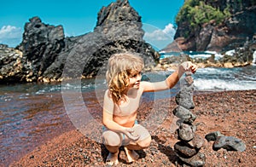
M 145 72 L 143 80 L 157 82 L 173 71 Z M 193 75 L 195 91 L 225 91 L 256 89 L 256 66 L 235 68 L 200 68 Z M 181 84 L 160 94 L 143 95 L 145 101 L 170 98 Z M 44 143 L 44 140 L 73 129 L 62 101 L 63 91 L 78 91 L 84 104 L 102 112 L 104 78 L 83 79 L 67 83 L 24 83 L 0 85 L 0 166 L 9 164 L 24 153 Z M 75 100 L 70 100 L 73 103 Z M 98 101 L 98 102 L 97 102 Z

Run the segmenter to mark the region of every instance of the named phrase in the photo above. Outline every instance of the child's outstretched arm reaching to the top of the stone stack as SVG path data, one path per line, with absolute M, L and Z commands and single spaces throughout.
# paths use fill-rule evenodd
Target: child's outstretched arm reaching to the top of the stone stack
M 177 67 L 177 70 L 173 72 L 165 81 L 157 83 L 142 82 L 143 91 L 160 91 L 165 89 L 171 89 L 178 82 L 179 78 L 183 76 L 184 72 L 195 73 L 197 66 L 190 61 L 185 61 Z

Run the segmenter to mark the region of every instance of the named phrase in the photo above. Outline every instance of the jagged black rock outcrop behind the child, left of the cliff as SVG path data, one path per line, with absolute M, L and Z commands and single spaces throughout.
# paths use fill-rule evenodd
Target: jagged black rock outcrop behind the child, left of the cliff
M 79 37 L 65 37 L 62 26 L 33 17 L 16 47 L 20 55 L 9 55 L 8 61 L 6 55 L 0 55 L 0 83 L 95 77 L 117 52 L 135 52 L 143 56 L 146 69 L 150 68 L 160 55 L 145 43 L 143 35 L 141 16 L 128 0 L 102 7 L 94 32 Z

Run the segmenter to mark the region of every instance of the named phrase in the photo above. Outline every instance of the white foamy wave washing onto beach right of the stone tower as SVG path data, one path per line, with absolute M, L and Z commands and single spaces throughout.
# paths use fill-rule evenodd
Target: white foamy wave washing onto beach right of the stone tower
M 256 89 L 253 67 L 201 68 L 194 75 L 197 90 L 245 90 Z

